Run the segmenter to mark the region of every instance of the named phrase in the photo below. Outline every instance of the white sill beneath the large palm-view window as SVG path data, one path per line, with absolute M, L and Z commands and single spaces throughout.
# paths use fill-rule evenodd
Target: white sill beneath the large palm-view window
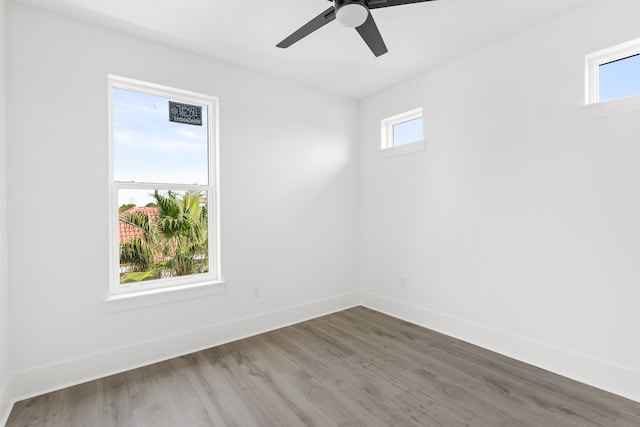
M 110 295 L 104 300 L 108 312 L 133 310 L 151 305 L 167 304 L 207 295 L 221 294 L 226 290 L 226 282 L 213 281 L 167 288 L 149 289 Z

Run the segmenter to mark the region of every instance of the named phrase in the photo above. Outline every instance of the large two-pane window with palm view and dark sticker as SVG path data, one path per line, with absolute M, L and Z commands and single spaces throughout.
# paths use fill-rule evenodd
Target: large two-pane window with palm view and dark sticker
M 109 76 L 111 293 L 219 281 L 217 100 Z

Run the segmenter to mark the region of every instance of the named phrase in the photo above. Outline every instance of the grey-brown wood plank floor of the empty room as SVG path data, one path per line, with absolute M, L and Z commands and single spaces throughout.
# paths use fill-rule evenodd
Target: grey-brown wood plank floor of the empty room
M 638 427 L 640 404 L 356 307 L 18 402 L 7 426 Z

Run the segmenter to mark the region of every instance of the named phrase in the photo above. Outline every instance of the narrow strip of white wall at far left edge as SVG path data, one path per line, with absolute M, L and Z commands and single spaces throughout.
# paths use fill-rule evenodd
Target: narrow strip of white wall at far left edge
M 5 1 L 0 0 L 0 424 L 8 415 L 11 391 L 9 360 L 9 282 L 7 274 L 7 125 Z

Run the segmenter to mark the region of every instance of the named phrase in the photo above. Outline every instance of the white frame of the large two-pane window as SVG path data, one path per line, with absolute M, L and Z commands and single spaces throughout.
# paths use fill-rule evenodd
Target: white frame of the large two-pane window
M 151 295 L 157 292 L 189 290 L 194 287 L 221 284 L 220 269 L 220 224 L 219 224 L 219 167 L 218 167 L 218 98 L 187 90 L 177 89 L 126 77 L 109 74 L 108 81 L 108 150 L 109 150 L 109 298 L 118 300 L 126 296 Z M 149 182 L 123 182 L 114 180 L 114 89 L 124 89 L 170 100 L 207 106 L 207 161 L 208 183 L 206 185 L 167 184 Z M 207 192 L 209 271 L 196 275 L 155 279 L 133 283 L 120 283 L 119 251 L 119 200 L 122 189 L 132 190 L 197 190 Z M 109 298 L 107 300 L 109 300 Z M 144 305 L 144 304 L 143 304 Z

